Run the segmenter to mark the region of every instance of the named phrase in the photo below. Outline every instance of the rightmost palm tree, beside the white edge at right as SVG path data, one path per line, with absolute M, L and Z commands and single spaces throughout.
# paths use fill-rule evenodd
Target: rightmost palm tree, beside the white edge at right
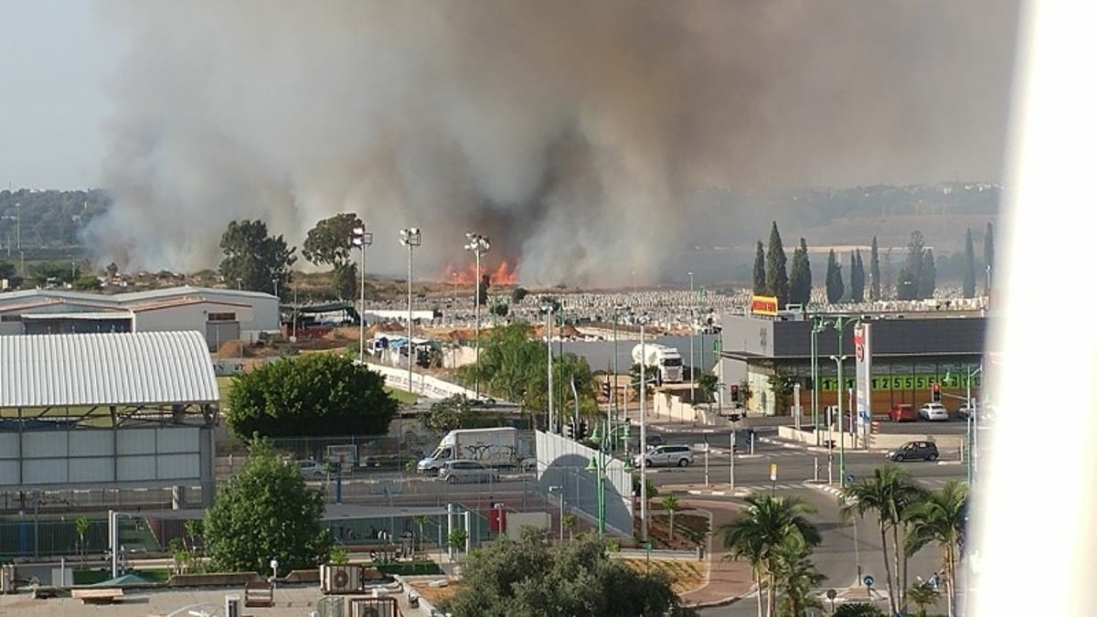
M 945 568 L 945 598 L 949 617 L 955 615 L 957 562 L 964 534 L 968 486 L 950 480 L 940 491 L 927 494 L 906 511 L 909 521 L 905 540 L 908 554 L 929 543 L 941 549 Z

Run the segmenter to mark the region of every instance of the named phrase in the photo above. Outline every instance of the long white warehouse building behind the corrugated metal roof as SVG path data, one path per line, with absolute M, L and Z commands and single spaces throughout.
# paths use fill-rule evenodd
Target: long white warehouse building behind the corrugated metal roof
M 197 330 L 216 349 L 255 341 L 281 326 L 269 293 L 177 287 L 113 295 L 64 290 L 0 293 L 0 336 Z

